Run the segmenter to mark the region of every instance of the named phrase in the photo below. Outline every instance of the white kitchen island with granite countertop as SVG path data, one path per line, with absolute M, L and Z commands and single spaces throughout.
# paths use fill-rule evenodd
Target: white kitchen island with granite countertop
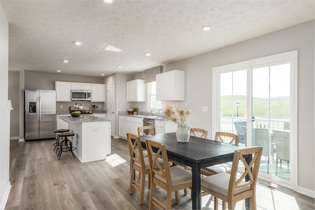
M 70 140 L 72 147 L 77 148 L 74 154 L 82 163 L 104 160 L 110 154 L 110 120 L 92 115 L 59 118 L 68 123 L 70 132 L 75 133 Z

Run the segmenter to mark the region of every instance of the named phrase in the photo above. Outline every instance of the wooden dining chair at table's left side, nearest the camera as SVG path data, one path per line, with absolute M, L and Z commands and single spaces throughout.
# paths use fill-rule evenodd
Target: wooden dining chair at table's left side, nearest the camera
M 192 187 L 192 174 L 178 166 L 163 167 L 168 165 L 164 144 L 147 139 L 146 147 L 151 170 L 149 209 L 152 210 L 155 206 L 158 209 L 163 208 L 169 210 L 172 208 L 172 192 L 175 191 L 175 203 L 178 204 L 179 190 Z M 156 153 L 154 151 L 156 151 Z M 163 159 L 162 164 L 157 161 L 159 157 Z M 156 185 L 166 191 L 166 202 L 161 201 L 160 196 L 155 196 Z

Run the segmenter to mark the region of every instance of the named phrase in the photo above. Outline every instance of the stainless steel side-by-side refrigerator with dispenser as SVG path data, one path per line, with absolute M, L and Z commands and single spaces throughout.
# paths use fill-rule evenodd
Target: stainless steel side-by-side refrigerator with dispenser
M 56 90 L 25 90 L 25 141 L 56 137 Z

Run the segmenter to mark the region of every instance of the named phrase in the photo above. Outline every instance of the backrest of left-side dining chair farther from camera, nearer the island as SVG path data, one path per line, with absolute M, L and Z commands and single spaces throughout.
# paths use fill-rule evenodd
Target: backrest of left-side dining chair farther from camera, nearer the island
M 136 162 L 139 163 L 141 167 L 145 166 L 140 137 L 132 133 L 127 133 L 127 142 L 130 154 L 130 164 Z

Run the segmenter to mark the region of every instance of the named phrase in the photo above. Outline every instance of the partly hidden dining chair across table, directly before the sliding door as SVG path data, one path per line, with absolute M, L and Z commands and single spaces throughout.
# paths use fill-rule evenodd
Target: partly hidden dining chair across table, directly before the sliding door
M 239 136 L 234 133 L 216 132 L 215 141 L 227 142 L 229 144 L 238 145 Z M 201 169 L 203 176 L 211 176 L 219 173 L 229 173 L 231 171 L 231 164 L 218 164 Z

